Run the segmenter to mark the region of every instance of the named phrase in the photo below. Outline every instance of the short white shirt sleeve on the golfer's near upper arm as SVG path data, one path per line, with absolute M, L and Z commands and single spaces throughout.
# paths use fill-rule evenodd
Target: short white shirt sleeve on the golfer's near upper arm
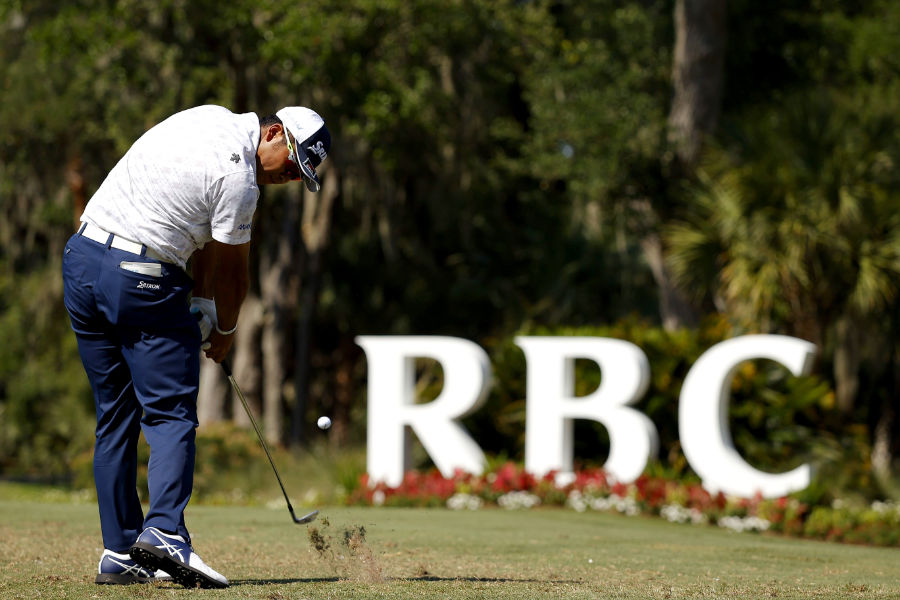
M 209 221 L 212 237 L 223 244 L 250 241 L 253 213 L 259 187 L 246 173 L 233 173 L 216 181 L 209 189 Z

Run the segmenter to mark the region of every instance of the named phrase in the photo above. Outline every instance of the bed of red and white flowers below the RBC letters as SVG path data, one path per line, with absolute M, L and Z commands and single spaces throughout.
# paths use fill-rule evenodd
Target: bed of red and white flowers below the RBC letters
M 601 469 L 586 469 L 565 485 L 554 474 L 536 478 L 514 463 L 484 475 L 409 471 L 397 487 L 372 484 L 368 475 L 348 496 L 355 505 L 507 510 L 567 507 L 624 515 L 651 515 L 673 523 L 717 525 L 733 531 L 772 532 L 829 541 L 900 545 L 900 505 L 809 506 L 794 498 L 734 498 L 710 494 L 697 483 L 643 475 L 623 484 Z

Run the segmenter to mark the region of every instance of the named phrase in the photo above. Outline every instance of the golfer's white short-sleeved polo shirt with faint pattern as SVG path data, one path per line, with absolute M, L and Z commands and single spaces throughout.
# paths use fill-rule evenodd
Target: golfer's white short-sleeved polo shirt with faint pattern
M 256 113 L 211 105 L 176 113 L 131 146 L 81 220 L 182 268 L 210 240 L 249 242 L 259 131 Z

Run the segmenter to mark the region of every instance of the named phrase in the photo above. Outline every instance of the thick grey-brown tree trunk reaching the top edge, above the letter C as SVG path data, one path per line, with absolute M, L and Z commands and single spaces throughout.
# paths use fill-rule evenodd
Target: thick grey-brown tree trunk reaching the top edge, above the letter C
M 686 173 L 696 167 L 704 137 L 715 129 L 722 99 L 725 0 L 677 0 L 669 142 Z

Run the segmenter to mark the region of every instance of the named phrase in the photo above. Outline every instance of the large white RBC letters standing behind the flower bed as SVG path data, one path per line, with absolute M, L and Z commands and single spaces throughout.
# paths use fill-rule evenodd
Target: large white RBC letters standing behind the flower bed
M 397 486 L 408 468 L 409 436 L 415 432 L 444 476 L 456 469 L 480 474 L 485 457 L 458 419 L 476 411 L 491 383 L 484 350 L 452 337 L 360 336 L 369 368 L 366 467 L 372 481 Z M 517 337 L 526 375 L 525 469 L 541 477 L 556 471 L 571 479 L 573 422 L 592 419 L 609 432 L 604 469 L 616 480 L 637 479 L 656 453 L 653 422 L 631 407 L 650 381 L 646 355 L 634 344 L 595 337 Z M 811 469 L 759 471 L 741 458 L 728 427 L 731 380 L 740 364 L 766 358 L 794 375 L 809 371 L 815 346 L 781 335 L 747 335 L 716 344 L 693 365 L 681 387 L 678 433 L 688 463 L 712 493 L 766 498 L 809 485 Z M 415 360 L 430 358 L 444 371 L 432 402 L 416 404 Z M 603 374 L 592 394 L 574 395 L 575 361 L 594 361 Z

